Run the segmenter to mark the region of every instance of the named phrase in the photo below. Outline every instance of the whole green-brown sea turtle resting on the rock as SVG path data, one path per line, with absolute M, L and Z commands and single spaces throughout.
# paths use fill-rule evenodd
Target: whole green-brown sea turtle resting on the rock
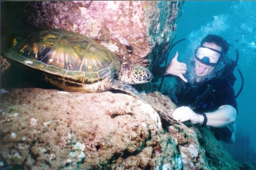
M 78 33 L 63 29 L 34 31 L 15 39 L 13 48 L 4 52 L 3 57 L 39 70 L 46 82 L 64 91 L 121 90 L 149 104 L 130 84 L 150 82 L 150 70 L 138 65 L 121 65 L 110 50 Z

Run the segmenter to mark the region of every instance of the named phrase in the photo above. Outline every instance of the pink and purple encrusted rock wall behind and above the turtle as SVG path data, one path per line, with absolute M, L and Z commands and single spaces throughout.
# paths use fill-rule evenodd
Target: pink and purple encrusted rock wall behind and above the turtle
M 91 37 L 124 63 L 155 67 L 166 59 L 176 37 L 184 2 L 27 2 L 24 15 L 36 28 L 61 28 Z M 20 14 L 19 14 L 20 15 Z

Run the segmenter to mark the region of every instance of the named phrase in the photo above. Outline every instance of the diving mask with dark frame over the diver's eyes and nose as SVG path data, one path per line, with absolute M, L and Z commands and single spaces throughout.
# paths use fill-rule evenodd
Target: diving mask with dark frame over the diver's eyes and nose
M 217 65 L 221 61 L 221 57 L 222 52 L 207 46 L 199 46 L 195 50 L 195 58 L 208 66 Z

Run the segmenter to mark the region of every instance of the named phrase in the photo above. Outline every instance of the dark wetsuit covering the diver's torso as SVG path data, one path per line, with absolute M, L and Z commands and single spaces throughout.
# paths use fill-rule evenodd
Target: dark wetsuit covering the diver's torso
M 189 106 L 191 105 L 205 90 L 209 84 L 216 84 L 213 91 L 201 102 L 193 111 L 196 113 L 205 113 L 209 111 L 214 111 L 214 109 L 219 108 L 221 105 L 232 105 L 232 107 L 237 109 L 236 97 L 234 94 L 234 89 L 232 84 L 228 79 L 218 80 L 213 78 L 204 82 L 199 82 L 193 84 L 185 83 L 180 78 L 177 78 L 176 87 L 165 93 L 165 95 L 170 96 L 172 102 L 174 102 L 177 107 Z M 210 128 L 214 136 L 218 140 L 229 141 L 232 137 L 232 131 L 228 128 Z

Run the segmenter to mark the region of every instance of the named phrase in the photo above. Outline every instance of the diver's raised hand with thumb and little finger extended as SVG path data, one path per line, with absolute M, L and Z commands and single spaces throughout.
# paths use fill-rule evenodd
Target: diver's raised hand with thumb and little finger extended
M 166 74 L 171 74 L 175 76 L 179 76 L 184 82 L 188 82 L 187 79 L 184 78 L 183 74 L 186 73 L 187 65 L 183 62 L 177 61 L 178 52 L 175 53 L 174 58 L 172 58 L 171 62 L 167 66 Z

